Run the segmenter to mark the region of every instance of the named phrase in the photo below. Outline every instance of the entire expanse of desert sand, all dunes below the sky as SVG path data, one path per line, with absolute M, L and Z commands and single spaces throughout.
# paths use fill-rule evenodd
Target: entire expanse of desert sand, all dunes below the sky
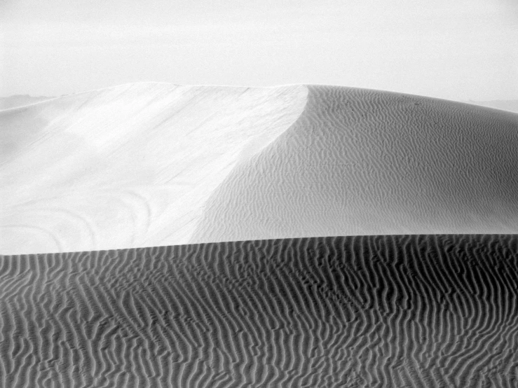
M 1 387 L 518 385 L 515 113 L 136 83 L 0 144 Z

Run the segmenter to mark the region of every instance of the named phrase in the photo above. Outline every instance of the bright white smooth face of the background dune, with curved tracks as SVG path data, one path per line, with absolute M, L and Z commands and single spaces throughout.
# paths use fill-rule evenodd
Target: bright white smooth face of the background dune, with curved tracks
M 307 92 L 140 83 L 0 112 L 0 252 L 188 242 L 212 191 Z

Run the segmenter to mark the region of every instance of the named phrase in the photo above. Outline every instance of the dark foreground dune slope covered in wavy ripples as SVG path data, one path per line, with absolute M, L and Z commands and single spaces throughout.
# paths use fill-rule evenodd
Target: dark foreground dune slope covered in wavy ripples
M 3 387 L 516 387 L 518 236 L 1 256 Z

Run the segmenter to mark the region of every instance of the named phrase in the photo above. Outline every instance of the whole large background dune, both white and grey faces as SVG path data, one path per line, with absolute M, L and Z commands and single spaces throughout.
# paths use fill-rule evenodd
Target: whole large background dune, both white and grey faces
M 0 112 L 0 252 L 518 233 L 518 115 L 329 86 L 137 83 Z

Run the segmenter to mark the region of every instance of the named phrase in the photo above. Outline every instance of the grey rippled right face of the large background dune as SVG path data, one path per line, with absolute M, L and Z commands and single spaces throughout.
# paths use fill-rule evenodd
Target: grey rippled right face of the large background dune
M 518 233 L 518 116 L 313 86 L 297 123 L 238 165 L 191 242 Z

